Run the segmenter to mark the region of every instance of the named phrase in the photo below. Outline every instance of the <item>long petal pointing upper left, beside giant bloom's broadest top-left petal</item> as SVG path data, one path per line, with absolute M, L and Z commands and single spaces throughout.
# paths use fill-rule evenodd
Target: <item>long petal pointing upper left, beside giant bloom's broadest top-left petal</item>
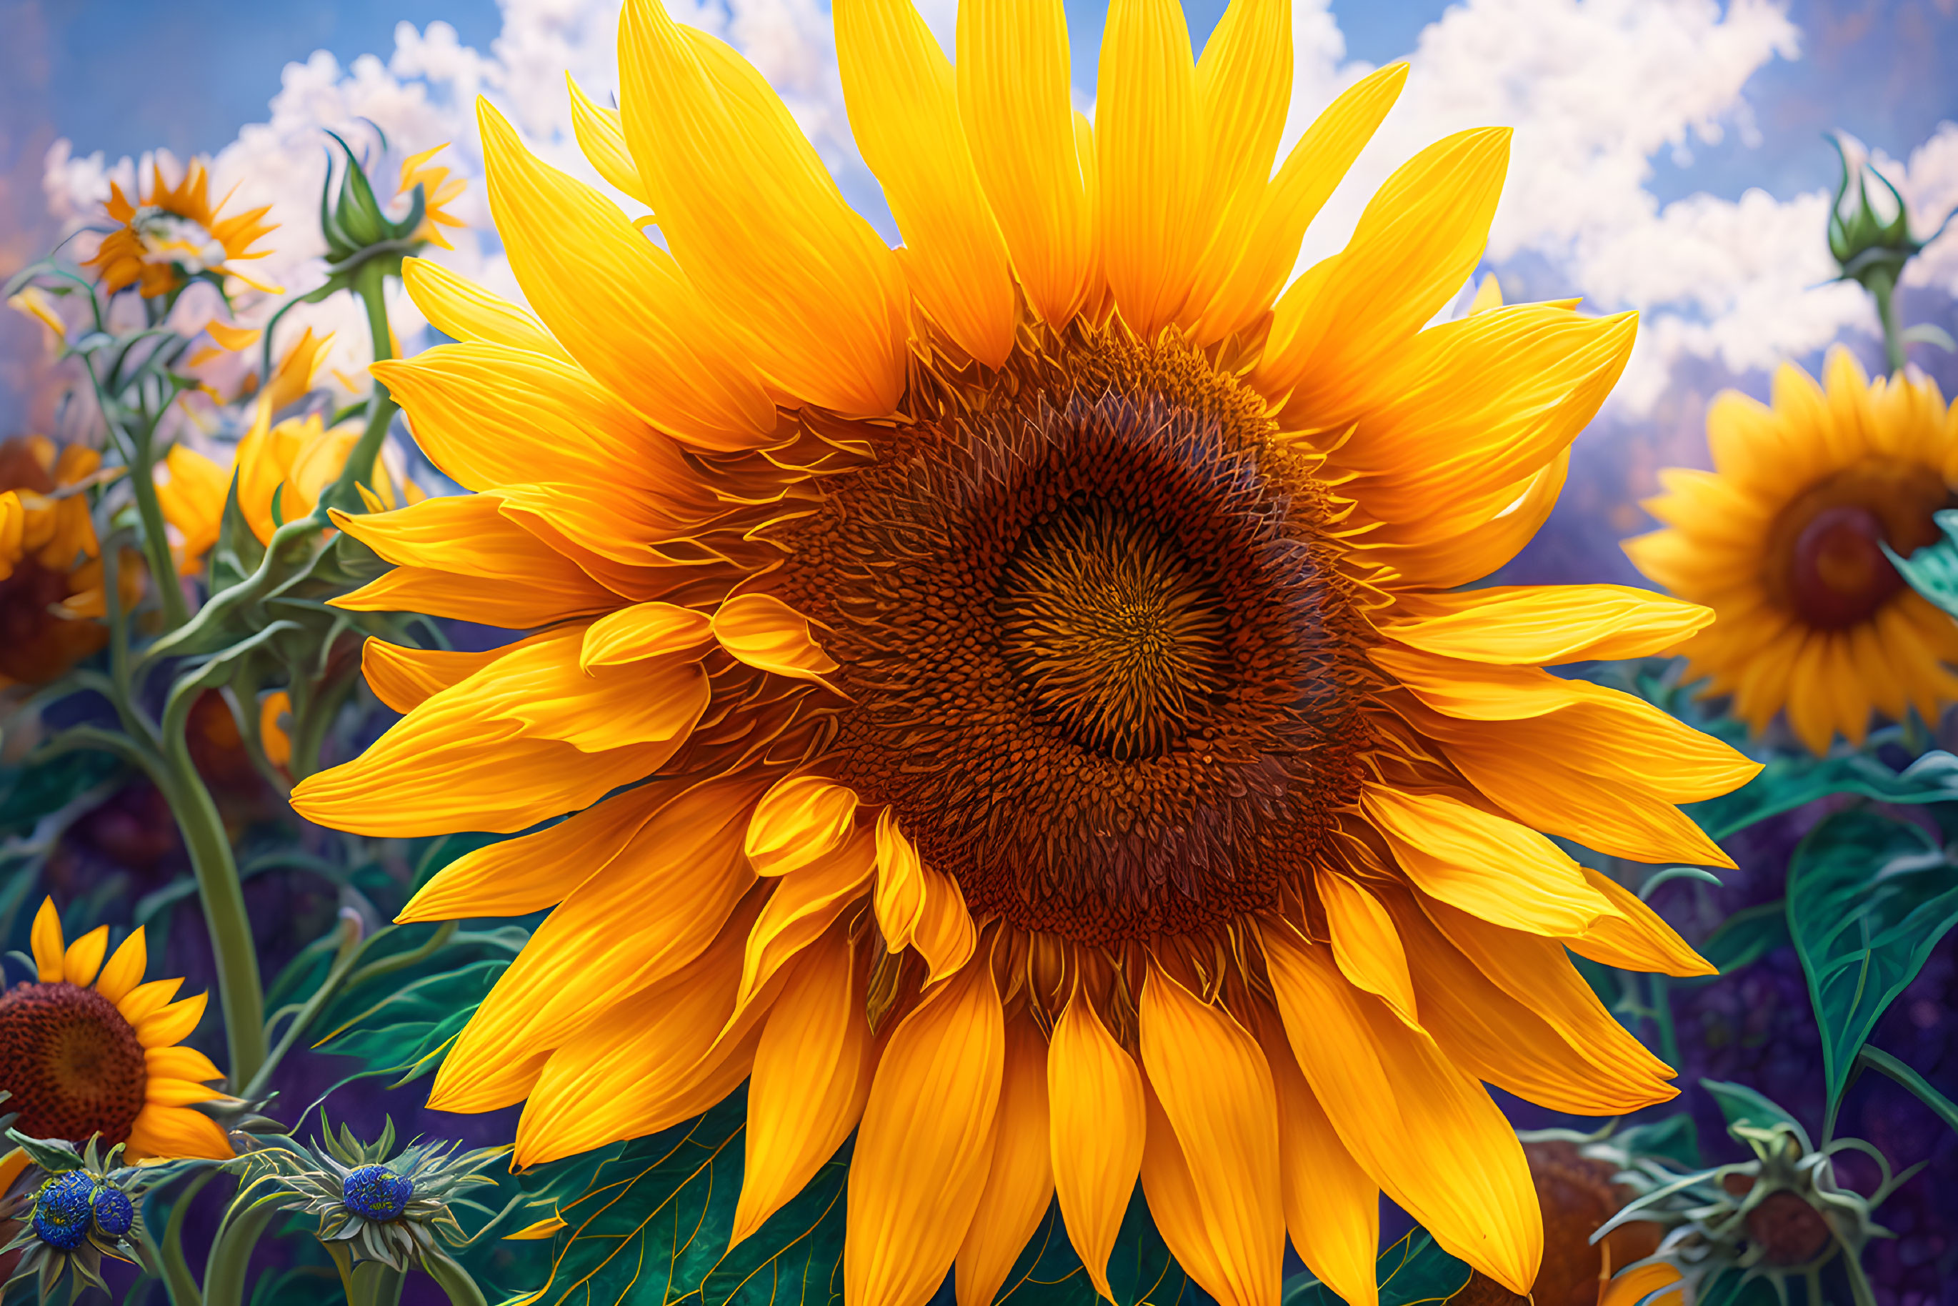
M 773 405 L 674 260 L 478 100 L 490 211 L 550 335 L 632 411 L 701 448 L 754 448 Z

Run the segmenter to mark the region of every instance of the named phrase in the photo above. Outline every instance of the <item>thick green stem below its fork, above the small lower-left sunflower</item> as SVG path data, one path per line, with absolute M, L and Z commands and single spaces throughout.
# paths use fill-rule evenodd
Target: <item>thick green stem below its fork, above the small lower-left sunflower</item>
M 188 717 L 188 711 L 184 715 Z M 253 946 L 251 918 L 245 914 L 239 865 L 231 856 L 231 836 L 217 815 L 217 803 L 211 801 L 211 791 L 204 787 L 204 777 L 190 760 L 182 719 L 164 721 L 163 756 L 170 770 L 164 797 L 184 832 L 184 848 L 190 850 L 190 869 L 196 871 L 198 899 L 204 903 L 204 924 L 211 932 L 211 956 L 217 957 L 217 995 L 225 1012 L 231 1083 L 249 1085 L 266 1057 L 264 991 L 258 983 L 258 950 Z

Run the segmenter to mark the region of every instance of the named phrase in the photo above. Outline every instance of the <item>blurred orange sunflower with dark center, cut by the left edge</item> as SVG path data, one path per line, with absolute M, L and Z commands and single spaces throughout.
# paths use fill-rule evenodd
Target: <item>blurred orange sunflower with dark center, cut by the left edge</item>
M 92 448 L 57 448 L 39 435 L 0 441 L 0 689 L 45 685 L 108 642 L 90 621 L 108 611 L 108 595 L 86 493 L 104 478 Z M 125 605 L 143 593 L 129 550 L 119 589 Z

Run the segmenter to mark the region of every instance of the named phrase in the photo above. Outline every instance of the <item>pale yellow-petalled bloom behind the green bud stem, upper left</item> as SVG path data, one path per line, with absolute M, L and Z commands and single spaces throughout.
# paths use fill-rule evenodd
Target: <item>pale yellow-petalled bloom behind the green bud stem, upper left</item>
M 204 570 L 204 554 L 217 542 L 223 525 L 225 495 L 233 478 L 237 478 L 239 511 L 260 544 L 272 542 L 272 531 L 280 521 L 311 513 L 321 491 L 339 480 L 347 456 L 360 443 L 358 423 L 329 427 L 319 413 L 272 421 L 274 413 L 311 390 L 313 374 L 331 343 L 331 335 L 315 337 L 307 327 L 286 350 L 272 380 L 258 392 L 251 431 L 237 443 L 229 470 L 188 444 L 176 444 L 164 456 L 163 466 L 168 476 L 157 484 L 157 499 L 164 521 L 176 531 L 176 566 L 184 576 Z M 397 507 L 423 497 L 407 480 L 397 491 L 388 466 L 380 460 L 374 462 L 372 493 L 378 507 Z

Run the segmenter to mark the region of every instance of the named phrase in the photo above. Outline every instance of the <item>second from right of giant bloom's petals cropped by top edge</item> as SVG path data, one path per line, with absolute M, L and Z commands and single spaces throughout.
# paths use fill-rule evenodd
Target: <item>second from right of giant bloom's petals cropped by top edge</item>
M 1112 0 L 1095 100 L 1102 270 L 1124 321 L 1155 339 L 1189 298 L 1218 192 L 1177 0 Z

